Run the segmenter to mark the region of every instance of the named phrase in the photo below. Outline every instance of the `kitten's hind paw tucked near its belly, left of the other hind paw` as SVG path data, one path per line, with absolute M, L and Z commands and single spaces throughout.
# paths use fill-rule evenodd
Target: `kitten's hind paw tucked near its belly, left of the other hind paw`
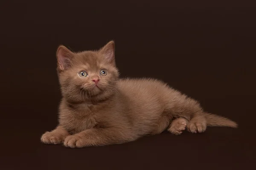
M 188 120 L 183 117 L 178 117 L 172 121 L 167 131 L 172 134 L 180 135 L 183 130 L 186 129 L 186 125 L 188 124 Z

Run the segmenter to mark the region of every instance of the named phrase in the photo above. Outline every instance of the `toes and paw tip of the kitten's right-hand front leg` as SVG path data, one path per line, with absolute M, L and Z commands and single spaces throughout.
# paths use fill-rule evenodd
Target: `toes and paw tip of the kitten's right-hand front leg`
M 64 146 L 65 147 L 84 147 L 84 139 L 81 138 L 79 135 L 70 135 L 67 136 L 67 138 L 64 140 Z

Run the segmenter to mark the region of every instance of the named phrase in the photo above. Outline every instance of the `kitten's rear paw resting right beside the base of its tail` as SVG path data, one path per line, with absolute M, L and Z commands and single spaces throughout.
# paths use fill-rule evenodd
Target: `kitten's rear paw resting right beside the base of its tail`
M 203 113 L 196 113 L 189 121 L 187 130 L 191 133 L 202 133 L 206 130 L 207 121 Z

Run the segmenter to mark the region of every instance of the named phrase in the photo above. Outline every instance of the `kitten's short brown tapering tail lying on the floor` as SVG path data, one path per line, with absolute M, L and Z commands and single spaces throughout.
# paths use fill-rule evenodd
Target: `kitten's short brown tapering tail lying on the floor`
M 236 122 L 215 114 L 205 113 L 205 118 L 207 121 L 207 126 L 238 127 Z

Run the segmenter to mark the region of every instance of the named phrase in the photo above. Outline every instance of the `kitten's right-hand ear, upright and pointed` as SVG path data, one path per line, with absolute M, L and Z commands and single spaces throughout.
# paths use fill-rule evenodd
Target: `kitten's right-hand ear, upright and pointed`
M 115 65 L 115 42 L 110 41 L 103 48 L 100 49 L 100 53 L 103 55 L 105 60 Z

